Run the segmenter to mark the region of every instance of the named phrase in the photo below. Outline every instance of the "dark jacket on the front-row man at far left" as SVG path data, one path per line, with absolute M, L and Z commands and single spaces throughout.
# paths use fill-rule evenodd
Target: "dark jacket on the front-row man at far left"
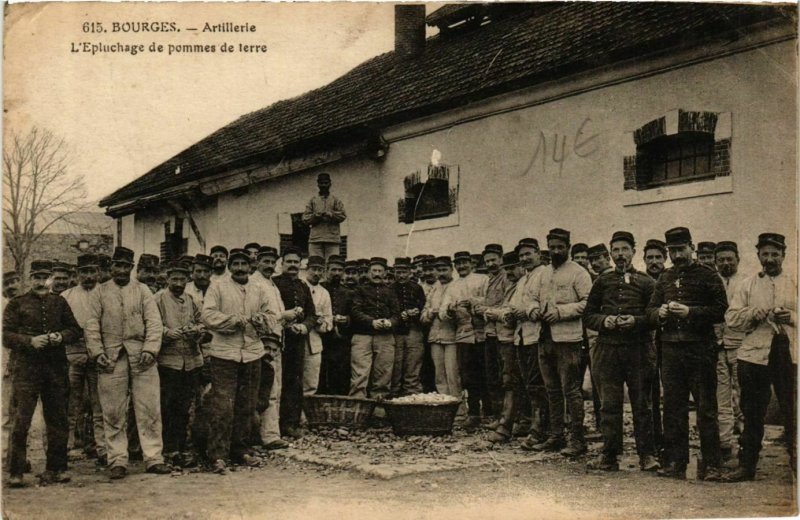
M 61 334 L 61 343 L 40 350 L 31 346 L 34 336 L 52 332 Z M 82 336 L 83 331 L 72 309 L 61 296 L 38 296 L 29 291 L 12 298 L 3 309 L 3 346 L 13 351 L 15 359 L 22 356 L 32 361 L 66 366 L 65 346 Z

